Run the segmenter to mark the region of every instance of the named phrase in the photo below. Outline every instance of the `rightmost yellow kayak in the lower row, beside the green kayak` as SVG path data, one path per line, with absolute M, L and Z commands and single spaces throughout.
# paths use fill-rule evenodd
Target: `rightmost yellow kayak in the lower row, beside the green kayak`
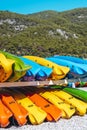
M 64 100 L 65 102 L 71 104 L 76 108 L 76 113 L 78 115 L 84 115 L 87 111 L 87 103 L 73 97 L 72 95 L 64 91 L 54 91 L 53 94 Z

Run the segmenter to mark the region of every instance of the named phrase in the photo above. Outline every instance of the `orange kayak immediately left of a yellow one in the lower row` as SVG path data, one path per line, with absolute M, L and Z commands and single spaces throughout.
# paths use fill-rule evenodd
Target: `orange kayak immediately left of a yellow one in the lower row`
M 18 104 L 14 98 L 7 94 L 1 94 L 2 102 L 9 108 L 9 110 L 13 113 L 14 118 L 17 123 L 22 126 L 27 122 L 28 112 L 23 108 L 20 104 Z

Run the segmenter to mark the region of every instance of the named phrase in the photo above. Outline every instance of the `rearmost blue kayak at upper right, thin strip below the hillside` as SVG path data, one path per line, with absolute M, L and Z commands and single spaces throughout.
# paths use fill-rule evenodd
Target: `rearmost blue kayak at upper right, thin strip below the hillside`
M 75 62 L 75 63 L 87 64 L 87 60 L 79 58 L 79 57 L 74 57 L 74 56 L 58 56 L 58 55 L 54 55 L 54 57 L 58 58 L 58 59 L 64 59 L 64 60 L 72 61 L 72 62 Z

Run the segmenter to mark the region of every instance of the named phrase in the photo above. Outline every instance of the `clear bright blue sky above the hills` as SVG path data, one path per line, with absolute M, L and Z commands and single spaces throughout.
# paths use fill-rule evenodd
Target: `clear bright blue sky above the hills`
M 0 11 L 32 14 L 45 10 L 58 12 L 87 7 L 87 0 L 0 0 Z

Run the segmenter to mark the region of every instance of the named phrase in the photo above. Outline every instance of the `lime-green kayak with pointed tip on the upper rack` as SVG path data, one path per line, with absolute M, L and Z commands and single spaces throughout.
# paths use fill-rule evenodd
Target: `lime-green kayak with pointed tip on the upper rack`
M 0 51 L 5 55 L 7 59 L 14 60 L 13 64 L 13 73 L 8 79 L 8 81 L 13 82 L 17 81 L 19 78 L 26 74 L 26 71 L 31 68 L 29 65 L 25 65 L 24 62 L 17 56 L 10 54 L 8 52 Z

